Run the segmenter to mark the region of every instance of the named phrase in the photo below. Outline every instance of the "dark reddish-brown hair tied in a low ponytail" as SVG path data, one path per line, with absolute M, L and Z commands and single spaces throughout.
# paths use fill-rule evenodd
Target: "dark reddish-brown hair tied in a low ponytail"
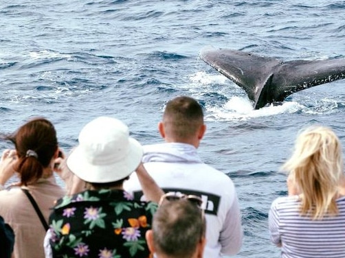
M 16 147 L 19 161 L 14 170 L 19 173 L 21 185 L 35 183 L 43 175 L 58 148 L 58 139 L 53 124 L 45 118 L 36 117 L 6 137 Z M 37 157 L 27 156 L 27 150 Z

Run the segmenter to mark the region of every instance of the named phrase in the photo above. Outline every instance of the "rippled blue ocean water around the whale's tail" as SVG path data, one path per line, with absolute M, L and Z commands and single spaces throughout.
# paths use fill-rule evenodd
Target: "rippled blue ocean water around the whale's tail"
M 282 60 L 344 58 L 345 1 L 13 0 L 0 2 L 0 19 L 2 133 L 44 116 L 68 152 L 87 121 L 110 115 L 155 143 L 168 99 L 201 102 L 208 131 L 199 153 L 234 180 L 241 203 L 236 257 L 279 257 L 267 213 L 287 193 L 278 169 L 298 130 L 330 126 L 345 144 L 344 80 L 252 110 L 242 89 L 199 59 L 208 46 Z

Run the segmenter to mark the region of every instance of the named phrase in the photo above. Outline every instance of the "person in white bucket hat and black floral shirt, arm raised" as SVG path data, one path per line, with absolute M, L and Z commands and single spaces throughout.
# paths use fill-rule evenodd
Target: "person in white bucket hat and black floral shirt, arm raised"
M 67 168 L 87 190 L 60 198 L 49 218 L 46 257 L 150 256 L 145 234 L 163 191 L 141 163 L 142 146 L 118 119 L 98 117 L 82 128 Z M 148 200 L 133 200 L 122 188 L 135 170 Z M 52 251 L 52 254 L 49 252 Z

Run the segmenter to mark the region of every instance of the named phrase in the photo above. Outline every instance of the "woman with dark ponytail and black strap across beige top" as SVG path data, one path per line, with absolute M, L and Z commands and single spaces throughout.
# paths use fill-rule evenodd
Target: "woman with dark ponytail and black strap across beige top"
M 28 121 L 6 139 L 15 150 L 5 150 L 0 162 L 0 215 L 16 236 L 14 257 L 44 257 L 43 239 L 50 208 L 65 194 L 53 169 L 59 148 L 56 130 L 47 119 Z M 5 190 L 16 174 L 19 187 Z

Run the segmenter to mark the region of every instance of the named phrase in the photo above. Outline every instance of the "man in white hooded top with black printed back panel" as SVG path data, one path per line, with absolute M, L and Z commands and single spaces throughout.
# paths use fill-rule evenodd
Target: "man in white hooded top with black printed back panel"
M 166 192 L 202 198 L 207 223 L 203 257 L 236 255 L 243 240 L 236 189 L 229 176 L 203 163 L 197 154 L 206 130 L 201 106 L 191 97 L 175 97 L 167 103 L 158 129 L 166 143 L 144 146 L 148 173 Z M 144 198 L 135 174 L 124 189 Z

